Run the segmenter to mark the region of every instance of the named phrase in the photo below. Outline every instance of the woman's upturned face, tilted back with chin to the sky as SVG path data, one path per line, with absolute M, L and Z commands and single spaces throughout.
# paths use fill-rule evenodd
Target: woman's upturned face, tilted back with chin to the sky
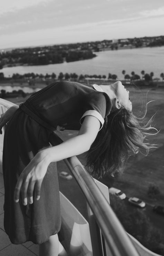
M 129 91 L 127 91 L 120 81 L 117 81 L 111 85 L 115 89 L 115 94 L 119 99 L 122 107 L 125 107 L 129 111 L 132 111 L 132 103 L 129 97 Z

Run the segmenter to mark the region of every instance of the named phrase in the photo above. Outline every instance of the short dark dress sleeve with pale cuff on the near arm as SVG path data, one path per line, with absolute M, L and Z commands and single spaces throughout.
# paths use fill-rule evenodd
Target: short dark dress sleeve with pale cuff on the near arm
M 87 95 L 83 105 L 83 115 L 80 119 L 82 124 L 85 116 L 94 116 L 100 121 L 100 130 L 104 124 L 104 117 L 106 115 L 106 97 L 101 92 L 92 92 Z

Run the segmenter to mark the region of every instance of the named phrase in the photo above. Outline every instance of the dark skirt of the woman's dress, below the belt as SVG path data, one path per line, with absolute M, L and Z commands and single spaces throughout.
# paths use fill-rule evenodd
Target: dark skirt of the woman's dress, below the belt
M 13 244 L 32 241 L 41 244 L 60 231 L 61 212 L 56 163 L 48 166 L 40 199 L 22 205 L 13 200 L 22 170 L 39 150 L 50 147 L 52 132 L 34 121 L 20 108 L 8 122 L 3 143 L 4 229 Z M 54 136 L 53 136 L 54 140 Z M 56 142 L 56 144 L 58 144 Z

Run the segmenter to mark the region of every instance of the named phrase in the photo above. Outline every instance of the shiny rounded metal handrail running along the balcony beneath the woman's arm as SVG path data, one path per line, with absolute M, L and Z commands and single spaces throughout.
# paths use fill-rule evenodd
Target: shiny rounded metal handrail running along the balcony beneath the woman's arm
M 7 100 L 1 100 L 5 107 L 15 104 Z M 8 104 L 9 103 L 9 104 Z M 56 135 L 57 136 L 57 135 Z M 59 143 L 63 141 L 57 136 Z M 53 142 L 51 142 L 53 145 Z M 88 202 L 101 232 L 111 250 L 112 256 L 139 256 L 134 245 L 128 238 L 124 228 L 112 211 L 108 201 L 101 193 L 93 178 L 82 166 L 76 156 L 64 159 L 76 182 L 80 186 L 86 201 Z M 100 218 L 101 216 L 101 218 Z

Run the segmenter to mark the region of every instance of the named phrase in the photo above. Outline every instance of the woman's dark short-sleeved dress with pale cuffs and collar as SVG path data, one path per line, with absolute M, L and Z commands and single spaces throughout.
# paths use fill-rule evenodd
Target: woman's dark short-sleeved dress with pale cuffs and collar
M 94 86 L 95 87 L 95 86 Z M 3 144 L 4 229 L 13 244 L 32 241 L 40 244 L 58 233 L 61 227 L 60 198 L 56 163 L 48 166 L 43 179 L 40 199 L 22 205 L 13 201 L 14 189 L 22 170 L 39 150 L 50 146 L 49 141 L 61 129 L 79 130 L 83 118 L 93 115 L 100 120 L 110 113 L 112 103 L 98 86 L 59 81 L 31 95 L 8 122 Z M 41 125 L 35 116 L 43 120 Z M 47 124 L 51 129 L 48 129 Z M 102 126 L 101 125 L 101 126 Z M 58 144 L 56 142 L 56 144 Z

